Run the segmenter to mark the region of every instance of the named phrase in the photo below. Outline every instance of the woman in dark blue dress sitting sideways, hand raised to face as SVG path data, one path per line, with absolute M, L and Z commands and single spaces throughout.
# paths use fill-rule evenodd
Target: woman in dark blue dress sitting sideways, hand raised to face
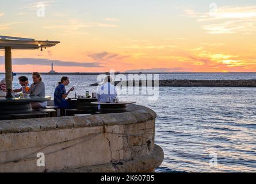
M 72 108 L 71 105 L 66 100 L 68 94 L 70 91 L 74 91 L 74 87 L 72 87 L 68 92 L 66 93 L 65 86 L 67 86 L 70 83 L 67 76 L 63 76 L 61 81 L 59 82 L 59 85 L 56 87 L 54 92 L 54 105 L 58 106 L 59 108 L 63 109 L 70 109 Z

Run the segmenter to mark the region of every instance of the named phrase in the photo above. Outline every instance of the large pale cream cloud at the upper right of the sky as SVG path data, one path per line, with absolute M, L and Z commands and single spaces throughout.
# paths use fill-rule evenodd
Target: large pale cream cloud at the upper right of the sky
M 215 22 L 203 25 L 202 29 L 210 34 L 227 34 L 253 31 L 256 25 L 256 6 L 223 6 L 212 14 L 184 10 L 185 16 L 196 18 L 198 22 Z

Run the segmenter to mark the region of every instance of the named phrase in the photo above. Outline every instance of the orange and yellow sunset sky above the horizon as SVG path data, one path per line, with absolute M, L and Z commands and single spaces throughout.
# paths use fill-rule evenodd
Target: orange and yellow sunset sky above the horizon
M 256 72 L 255 0 L 0 2 L 0 35 L 60 41 L 13 51 L 15 72 Z

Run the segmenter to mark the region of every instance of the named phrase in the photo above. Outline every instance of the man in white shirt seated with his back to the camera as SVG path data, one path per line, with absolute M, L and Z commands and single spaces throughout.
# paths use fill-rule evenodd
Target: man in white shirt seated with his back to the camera
M 117 97 L 116 87 L 112 85 L 112 79 L 107 76 L 104 83 L 97 87 L 98 102 L 106 102 L 110 98 L 110 102 L 114 102 Z M 100 106 L 98 107 L 100 109 Z

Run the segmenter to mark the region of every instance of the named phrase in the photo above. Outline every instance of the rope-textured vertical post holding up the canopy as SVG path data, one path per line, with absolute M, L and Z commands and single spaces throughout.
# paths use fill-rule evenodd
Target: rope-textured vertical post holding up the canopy
M 13 98 L 13 74 L 12 74 L 12 48 L 5 47 L 5 81 L 6 81 L 6 98 Z

